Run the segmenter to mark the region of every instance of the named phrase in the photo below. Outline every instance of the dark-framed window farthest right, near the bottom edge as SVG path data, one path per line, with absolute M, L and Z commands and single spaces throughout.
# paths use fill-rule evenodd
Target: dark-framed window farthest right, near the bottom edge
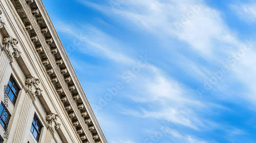
M 30 131 L 34 135 L 35 139 L 38 141 L 41 133 L 42 125 L 40 121 L 38 120 L 37 116 L 34 115 L 32 126 L 30 128 Z

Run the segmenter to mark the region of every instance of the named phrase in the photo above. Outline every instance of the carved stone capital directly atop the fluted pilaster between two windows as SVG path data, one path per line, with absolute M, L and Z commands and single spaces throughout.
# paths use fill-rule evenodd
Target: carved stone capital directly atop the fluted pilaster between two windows
M 39 79 L 35 77 L 31 77 L 26 79 L 25 83 L 26 83 L 26 88 L 33 95 L 34 99 L 35 99 L 35 96 L 38 97 L 41 94 L 42 90 L 39 87 L 39 84 L 40 84 Z

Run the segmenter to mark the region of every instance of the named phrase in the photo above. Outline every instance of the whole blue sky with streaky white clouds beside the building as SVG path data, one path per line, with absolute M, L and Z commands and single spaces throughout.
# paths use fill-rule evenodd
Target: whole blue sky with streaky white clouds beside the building
M 256 142 L 255 1 L 43 2 L 108 142 Z

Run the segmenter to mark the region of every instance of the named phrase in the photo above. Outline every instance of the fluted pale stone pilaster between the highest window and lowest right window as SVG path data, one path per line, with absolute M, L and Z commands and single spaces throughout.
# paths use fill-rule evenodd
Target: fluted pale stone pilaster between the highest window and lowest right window
M 13 139 L 12 142 L 22 142 L 22 137 L 24 135 L 24 129 L 25 129 L 25 124 L 26 124 L 26 120 L 28 117 L 28 113 L 29 113 L 29 109 L 30 109 L 30 105 L 32 103 L 32 99 L 29 96 L 29 93 L 26 93 L 25 95 L 25 99 L 24 99 L 24 103 L 22 106 L 22 111 L 20 113 L 20 117 L 19 117 L 19 122 L 15 131 L 15 137 Z

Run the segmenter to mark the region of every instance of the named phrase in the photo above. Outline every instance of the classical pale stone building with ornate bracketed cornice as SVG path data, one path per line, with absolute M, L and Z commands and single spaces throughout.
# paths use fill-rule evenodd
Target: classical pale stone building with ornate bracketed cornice
M 0 10 L 0 143 L 107 142 L 42 1 Z

